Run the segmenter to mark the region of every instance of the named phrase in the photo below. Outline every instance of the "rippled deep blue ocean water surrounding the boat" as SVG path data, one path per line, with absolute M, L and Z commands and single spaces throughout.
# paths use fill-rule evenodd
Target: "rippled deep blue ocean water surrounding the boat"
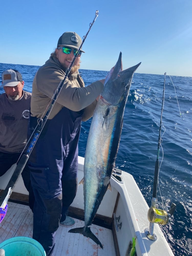
M 132 64 L 134 66 L 136 63 Z M 31 92 L 39 66 L 0 63 L 0 73 L 10 68 L 22 74 L 24 90 Z M 88 85 L 104 79 L 108 72 L 80 69 L 80 73 Z M 160 147 L 159 154 L 159 162 L 162 158 L 163 161 L 159 171 L 157 206 L 163 209 L 163 204 L 176 204 L 174 217 L 161 229 L 173 253 L 181 256 L 192 255 L 192 77 L 171 76 L 171 79 L 166 75 L 161 129 L 163 150 Z M 116 158 L 116 168 L 133 175 L 149 207 L 157 158 L 163 85 L 164 74 L 134 74 Z M 3 92 L 3 88 L 0 88 L 0 94 Z M 90 123 L 91 119 L 82 122 L 79 155 L 83 157 Z

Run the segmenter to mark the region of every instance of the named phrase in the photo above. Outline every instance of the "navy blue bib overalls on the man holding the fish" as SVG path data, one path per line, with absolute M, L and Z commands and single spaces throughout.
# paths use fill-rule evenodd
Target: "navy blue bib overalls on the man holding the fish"
M 29 157 L 35 196 L 33 238 L 42 244 L 47 256 L 53 255 L 59 220 L 65 220 L 65 213 L 76 195 L 83 112 L 63 107 L 52 120 L 47 120 Z M 31 117 L 30 131 L 36 125 L 37 118 Z

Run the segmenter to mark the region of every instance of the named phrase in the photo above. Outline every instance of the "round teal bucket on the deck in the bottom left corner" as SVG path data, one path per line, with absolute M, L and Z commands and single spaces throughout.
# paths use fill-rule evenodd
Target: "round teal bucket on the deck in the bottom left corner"
M 30 237 L 12 237 L 0 243 L 5 256 L 46 256 L 42 245 Z

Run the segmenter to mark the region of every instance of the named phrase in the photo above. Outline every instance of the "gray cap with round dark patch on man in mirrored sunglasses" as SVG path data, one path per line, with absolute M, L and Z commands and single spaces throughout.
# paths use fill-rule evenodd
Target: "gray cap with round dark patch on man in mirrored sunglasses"
M 68 47 L 73 47 L 75 49 L 79 49 L 81 43 L 82 43 L 81 37 L 77 33 L 65 32 L 62 34 L 62 36 L 59 37 L 57 47 L 59 45 L 62 45 L 62 46 L 68 46 Z

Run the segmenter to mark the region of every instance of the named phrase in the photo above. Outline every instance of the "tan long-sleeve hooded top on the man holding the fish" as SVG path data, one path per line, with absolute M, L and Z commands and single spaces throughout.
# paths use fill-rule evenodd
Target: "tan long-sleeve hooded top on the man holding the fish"
M 46 108 L 64 77 L 65 72 L 54 57 L 50 57 L 45 65 L 39 68 L 33 81 L 31 116 L 44 117 Z M 52 119 L 65 106 L 72 111 L 84 109 L 82 121 L 88 120 L 93 115 L 97 104 L 96 98 L 102 90 L 103 84 L 100 81 L 85 87 L 78 72 L 68 76 L 48 119 Z

